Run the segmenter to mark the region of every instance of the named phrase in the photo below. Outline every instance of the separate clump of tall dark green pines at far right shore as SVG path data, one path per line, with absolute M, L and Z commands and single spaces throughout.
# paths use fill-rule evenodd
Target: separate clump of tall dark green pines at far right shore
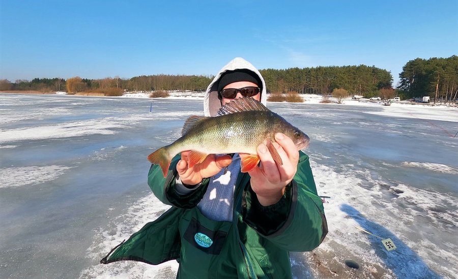
M 458 93 L 458 56 L 410 60 L 399 78 L 398 88 L 407 97 L 430 96 L 434 100 L 454 101 Z

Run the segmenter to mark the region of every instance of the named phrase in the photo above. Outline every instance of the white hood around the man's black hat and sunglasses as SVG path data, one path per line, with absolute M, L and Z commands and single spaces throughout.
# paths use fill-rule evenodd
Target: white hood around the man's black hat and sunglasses
M 215 83 L 219 80 L 219 78 L 222 76 L 222 74 L 224 72 L 240 70 L 240 69 L 250 70 L 250 71 L 252 71 L 253 73 L 255 73 L 256 75 L 259 76 L 259 78 L 263 82 L 263 85 L 262 85 L 263 91 L 261 92 L 261 103 L 263 105 L 266 105 L 266 103 L 267 103 L 267 91 L 266 91 L 266 82 L 264 81 L 263 76 L 247 60 L 245 60 L 245 59 L 243 59 L 241 57 L 236 57 L 233 60 L 231 60 L 229 63 L 227 63 L 227 65 L 224 66 L 221 70 L 219 70 L 218 74 L 216 74 L 216 76 L 213 79 L 213 81 L 207 87 L 207 91 L 205 92 L 205 100 L 204 100 L 204 113 L 205 113 L 205 116 L 215 116 L 216 113 L 221 108 L 221 101 L 218 99 L 218 84 L 215 84 Z

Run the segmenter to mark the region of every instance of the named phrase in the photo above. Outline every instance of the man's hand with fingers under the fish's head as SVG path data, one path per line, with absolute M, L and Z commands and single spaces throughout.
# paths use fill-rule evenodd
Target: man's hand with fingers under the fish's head
M 277 203 L 284 194 L 284 189 L 297 171 L 299 152 L 293 140 L 282 133 L 275 134 L 273 146 L 280 155 L 283 165 L 276 163 L 265 144 L 257 146 L 261 166 L 254 167 L 248 173 L 251 176 L 251 189 L 263 206 Z

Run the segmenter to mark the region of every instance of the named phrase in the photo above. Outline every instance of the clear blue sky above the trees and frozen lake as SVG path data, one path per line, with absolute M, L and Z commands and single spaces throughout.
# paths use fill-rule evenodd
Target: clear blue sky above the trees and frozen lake
M 0 0 L 0 79 L 214 75 L 458 54 L 454 1 Z

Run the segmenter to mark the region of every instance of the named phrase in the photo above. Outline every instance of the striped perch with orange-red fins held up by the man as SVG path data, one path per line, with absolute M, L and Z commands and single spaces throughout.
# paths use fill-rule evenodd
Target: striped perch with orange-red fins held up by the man
M 265 143 L 274 160 L 281 163 L 271 145 L 278 132 L 293 139 L 298 149 L 308 145 L 308 136 L 281 116 L 252 98 L 240 98 L 223 106 L 215 117 L 189 117 L 183 126 L 183 136 L 151 153 L 148 160 L 159 164 L 165 176 L 171 158 L 185 150 L 191 150 L 188 167 L 201 163 L 208 154 L 250 154 L 241 156 L 242 171 L 246 172 L 259 163 L 256 148 L 261 143 Z

